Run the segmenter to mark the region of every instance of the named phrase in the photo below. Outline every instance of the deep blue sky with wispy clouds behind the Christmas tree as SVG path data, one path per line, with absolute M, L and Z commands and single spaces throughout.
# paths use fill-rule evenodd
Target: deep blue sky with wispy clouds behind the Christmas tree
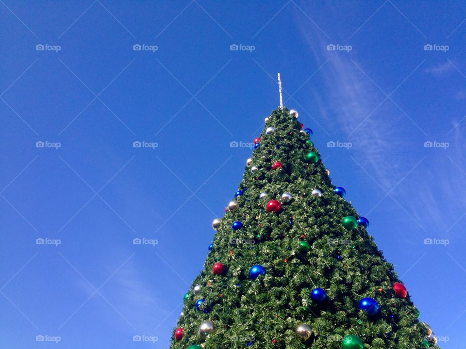
M 0 2 L 2 346 L 166 348 L 277 72 L 420 319 L 463 344 L 464 3 Z

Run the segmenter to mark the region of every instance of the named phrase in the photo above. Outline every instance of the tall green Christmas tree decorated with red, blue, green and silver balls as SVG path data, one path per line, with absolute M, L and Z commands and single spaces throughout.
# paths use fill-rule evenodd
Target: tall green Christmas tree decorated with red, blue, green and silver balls
M 393 265 L 335 193 L 301 127 L 287 109 L 270 115 L 242 195 L 232 198 L 237 207 L 221 218 L 204 270 L 184 297 L 170 348 L 434 347 L 404 286 L 393 286 L 400 283 Z M 278 212 L 272 204 L 267 211 L 271 200 Z

